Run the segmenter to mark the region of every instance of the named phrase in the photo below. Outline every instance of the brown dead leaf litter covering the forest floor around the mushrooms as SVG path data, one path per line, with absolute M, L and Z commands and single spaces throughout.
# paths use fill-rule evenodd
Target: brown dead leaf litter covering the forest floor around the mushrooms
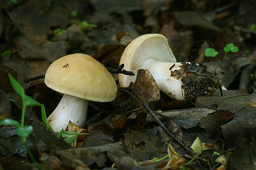
M 255 68 L 246 72 L 248 82 L 241 74 L 254 62 L 256 34 L 249 23 L 256 21 L 249 16 L 255 14 L 255 4 L 250 1 L 206 4 L 206 1 L 175 0 L 84 3 L 39 0 L 15 6 L 11 1 L 4 2 L 0 12 L 0 117 L 19 121 L 22 109 L 7 73 L 19 80 L 27 95 L 43 103 L 49 115 L 61 94 L 46 87 L 43 79 L 24 83 L 24 78 L 44 75 L 51 62 L 70 53 L 92 55 L 105 66 L 116 69 L 132 39 L 160 32 L 167 37 L 178 61 L 199 61 L 200 54 L 213 78 L 228 89 L 223 90 L 223 96 L 216 90 L 213 96 L 193 98 L 195 102 L 190 104 L 173 101 L 159 91 L 149 71 L 140 70 L 127 90 L 158 114 L 156 117 L 175 139 L 149 115 L 146 105 L 142 106 L 120 88 L 113 102 L 89 103 L 88 119 L 81 130 L 92 135 L 81 136 L 77 142 L 81 148 L 76 149 L 47 130 L 41 122 L 40 107 L 27 108 L 26 123 L 35 129 L 28 137 L 28 147 L 36 161 L 44 169 L 255 169 Z M 77 16 L 72 16 L 72 11 L 77 11 Z M 97 28 L 80 29 L 78 25 L 84 20 Z M 55 36 L 57 28 L 66 31 Z M 239 51 L 223 59 L 223 47 L 229 43 Z M 218 61 L 199 52 L 205 46 L 219 52 Z M 35 169 L 14 132 L 12 126 L 1 126 L 0 166 Z M 212 149 L 202 151 L 189 163 L 193 156 L 184 148 L 190 148 L 197 137 Z M 167 158 L 158 162 L 153 159 L 164 156 Z

